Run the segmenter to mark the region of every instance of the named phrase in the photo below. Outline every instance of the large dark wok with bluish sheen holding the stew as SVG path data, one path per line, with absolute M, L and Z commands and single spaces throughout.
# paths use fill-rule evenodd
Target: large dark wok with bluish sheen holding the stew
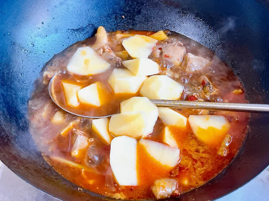
M 125 19 L 121 16 L 124 15 Z M 170 29 L 215 51 L 239 75 L 252 103 L 269 103 L 269 3 L 262 0 L 9 0 L 0 3 L 0 159 L 33 186 L 63 200 L 100 200 L 57 174 L 28 130 L 27 99 L 42 66 L 98 26 Z M 181 200 L 211 200 L 269 164 L 269 115 L 252 114 L 241 152 L 227 169 Z

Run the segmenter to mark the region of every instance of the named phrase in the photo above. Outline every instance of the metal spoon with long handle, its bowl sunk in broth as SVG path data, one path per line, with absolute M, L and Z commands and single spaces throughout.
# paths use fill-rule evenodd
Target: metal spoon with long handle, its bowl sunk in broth
M 103 118 L 109 117 L 113 114 L 109 114 L 106 116 L 84 116 L 80 114 L 76 114 L 70 112 L 63 108 L 59 103 L 54 99 L 52 93 L 52 83 L 54 77 L 51 79 L 48 85 L 48 91 L 51 96 L 51 99 L 54 103 L 60 107 L 62 110 L 65 110 L 68 113 L 86 117 L 86 118 Z M 170 108 L 188 108 L 188 109 L 205 109 L 205 110 L 224 110 L 224 111 L 238 111 L 238 112 L 254 112 L 254 113 L 269 113 L 269 105 L 266 104 L 250 104 L 250 103 L 223 103 L 223 102 L 198 102 L 198 101 L 179 101 L 179 100 L 150 100 L 158 107 L 170 107 Z

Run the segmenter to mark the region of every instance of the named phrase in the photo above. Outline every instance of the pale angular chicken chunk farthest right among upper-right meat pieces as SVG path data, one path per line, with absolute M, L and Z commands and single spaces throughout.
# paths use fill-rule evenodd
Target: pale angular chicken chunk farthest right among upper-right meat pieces
M 181 66 L 187 73 L 193 73 L 194 71 L 198 71 L 204 68 L 207 63 L 209 63 L 208 59 L 188 53 L 184 58 Z

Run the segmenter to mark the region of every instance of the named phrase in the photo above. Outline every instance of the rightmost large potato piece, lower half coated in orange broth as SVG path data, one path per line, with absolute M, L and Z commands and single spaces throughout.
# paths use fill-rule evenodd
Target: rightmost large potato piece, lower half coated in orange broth
M 229 122 L 221 115 L 190 115 L 188 120 L 197 138 L 211 145 L 220 145 L 230 129 Z

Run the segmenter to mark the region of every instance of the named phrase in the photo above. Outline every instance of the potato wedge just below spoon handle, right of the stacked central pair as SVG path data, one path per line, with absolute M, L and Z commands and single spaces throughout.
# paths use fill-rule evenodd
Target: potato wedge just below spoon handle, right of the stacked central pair
M 187 118 L 180 113 L 168 108 L 158 107 L 159 117 L 167 126 L 186 127 Z

